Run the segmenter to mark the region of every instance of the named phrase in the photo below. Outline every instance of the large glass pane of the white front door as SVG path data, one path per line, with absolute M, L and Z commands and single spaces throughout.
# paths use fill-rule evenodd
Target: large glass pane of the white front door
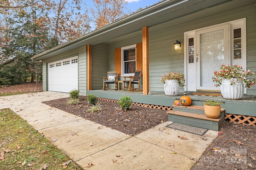
M 214 86 L 214 70 L 224 62 L 224 29 L 200 34 L 200 86 Z

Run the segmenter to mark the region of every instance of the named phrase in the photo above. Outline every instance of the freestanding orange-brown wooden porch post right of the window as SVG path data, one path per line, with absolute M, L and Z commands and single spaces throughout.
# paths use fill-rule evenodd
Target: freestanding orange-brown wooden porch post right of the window
M 149 66 L 148 66 L 148 27 L 142 28 L 142 72 L 143 95 L 149 92 Z

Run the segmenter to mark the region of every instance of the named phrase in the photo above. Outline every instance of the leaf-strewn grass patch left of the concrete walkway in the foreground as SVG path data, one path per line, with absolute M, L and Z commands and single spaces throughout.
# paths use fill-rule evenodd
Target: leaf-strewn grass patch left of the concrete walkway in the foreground
M 70 159 L 10 109 L 0 110 L 0 169 L 63 170 Z M 26 164 L 22 165 L 24 162 Z M 73 162 L 66 170 L 82 170 Z

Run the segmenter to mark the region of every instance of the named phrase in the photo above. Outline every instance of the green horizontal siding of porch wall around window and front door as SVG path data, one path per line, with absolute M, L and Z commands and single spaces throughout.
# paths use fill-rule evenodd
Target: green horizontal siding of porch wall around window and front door
M 215 7 L 217 8 L 217 7 Z M 218 7 L 219 8 L 219 7 Z M 209 11 L 212 8 L 205 10 Z M 160 78 L 166 72 L 184 72 L 184 32 L 200 29 L 228 21 L 246 18 L 247 33 L 247 69 L 256 72 L 256 8 L 255 4 L 209 15 L 205 12 L 197 12 L 190 16 L 149 27 L 149 86 L 150 91 L 162 91 L 164 85 Z M 209 15 L 209 16 L 207 16 Z M 201 16 L 194 20 L 194 16 Z M 141 31 L 142 32 L 142 31 Z M 140 33 L 141 33 L 140 32 Z M 114 49 L 125 47 L 142 41 L 141 35 L 130 34 L 128 39 L 109 44 L 108 68 L 114 71 Z M 124 37 L 125 38 L 125 37 Z M 181 42 L 181 50 L 174 51 L 173 43 Z M 247 94 L 256 95 L 256 87 L 253 86 Z

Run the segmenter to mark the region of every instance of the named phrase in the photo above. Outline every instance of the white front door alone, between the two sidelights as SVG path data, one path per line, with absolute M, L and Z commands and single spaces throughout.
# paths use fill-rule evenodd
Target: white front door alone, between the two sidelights
M 196 90 L 219 90 L 212 77 L 221 64 L 230 64 L 229 25 L 196 31 Z

